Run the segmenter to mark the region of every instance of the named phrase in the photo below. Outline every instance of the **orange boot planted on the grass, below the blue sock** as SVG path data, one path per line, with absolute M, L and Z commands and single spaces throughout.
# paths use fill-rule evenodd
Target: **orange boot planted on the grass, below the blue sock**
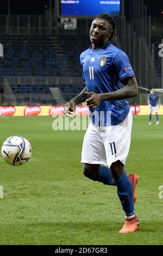
M 123 228 L 119 231 L 119 233 L 131 233 L 138 230 L 140 227 L 139 218 L 135 215 L 135 217 L 128 220 L 125 218 L 125 222 Z

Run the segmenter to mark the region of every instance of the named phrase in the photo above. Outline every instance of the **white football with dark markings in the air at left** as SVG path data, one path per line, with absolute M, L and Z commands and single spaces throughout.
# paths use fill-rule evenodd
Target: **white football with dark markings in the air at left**
M 20 166 L 32 156 L 32 147 L 26 138 L 11 136 L 2 145 L 2 156 L 12 166 Z

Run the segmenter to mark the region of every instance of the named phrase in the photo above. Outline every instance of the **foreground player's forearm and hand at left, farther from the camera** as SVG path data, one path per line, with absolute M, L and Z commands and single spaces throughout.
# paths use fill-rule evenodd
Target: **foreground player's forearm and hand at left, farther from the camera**
M 76 105 L 86 101 L 87 95 L 85 94 L 85 92 L 87 92 L 86 87 L 71 101 L 66 102 L 64 109 L 64 114 L 66 115 L 66 117 L 70 115 L 70 112 L 74 112 L 76 110 Z

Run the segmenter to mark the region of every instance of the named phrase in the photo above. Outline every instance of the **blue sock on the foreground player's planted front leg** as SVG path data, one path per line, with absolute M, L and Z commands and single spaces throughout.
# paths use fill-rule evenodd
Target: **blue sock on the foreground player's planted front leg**
M 115 181 L 117 185 L 117 194 L 120 198 L 122 209 L 124 210 L 126 216 L 134 215 L 133 186 L 126 172 L 124 172 Z

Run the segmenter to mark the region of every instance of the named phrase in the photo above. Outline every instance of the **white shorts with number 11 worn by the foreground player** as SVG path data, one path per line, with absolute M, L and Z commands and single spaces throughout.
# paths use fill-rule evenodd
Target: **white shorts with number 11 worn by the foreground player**
M 82 163 L 111 166 L 120 160 L 123 164 L 129 153 L 133 115 L 131 111 L 121 124 L 94 126 L 89 124 L 84 136 Z

